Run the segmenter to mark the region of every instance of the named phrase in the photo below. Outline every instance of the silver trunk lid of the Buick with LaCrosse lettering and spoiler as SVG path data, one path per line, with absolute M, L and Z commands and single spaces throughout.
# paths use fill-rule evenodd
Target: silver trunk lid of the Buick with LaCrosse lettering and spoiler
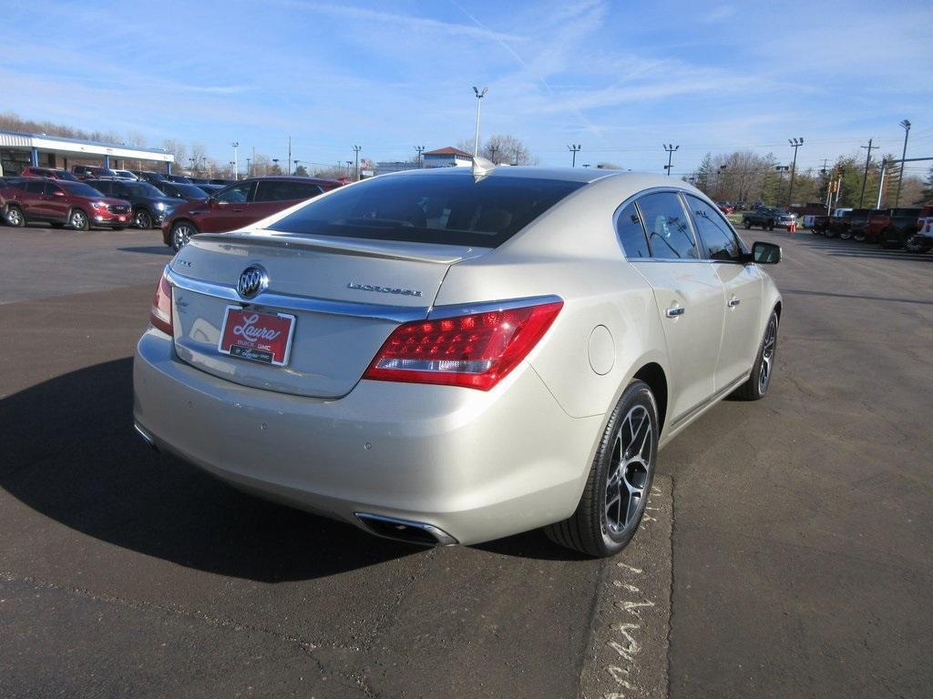
M 265 231 L 200 235 L 171 265 L 175 349 L 182 361 L 244 386 L 339 398 L 400 322 L 427 316 L 451 265 L 485 252 Z M 268 279 L 251 299 L 237 291 L 247 267 Z M 285 365 L 221 351 L 228 308 L 293 316 Z

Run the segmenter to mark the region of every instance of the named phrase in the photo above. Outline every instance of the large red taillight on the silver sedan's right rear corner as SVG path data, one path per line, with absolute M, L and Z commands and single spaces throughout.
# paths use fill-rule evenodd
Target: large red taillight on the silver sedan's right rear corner
M 363 378 L 489 391 L 550 328 L 563 301 L 406 322 L 383 343 Z

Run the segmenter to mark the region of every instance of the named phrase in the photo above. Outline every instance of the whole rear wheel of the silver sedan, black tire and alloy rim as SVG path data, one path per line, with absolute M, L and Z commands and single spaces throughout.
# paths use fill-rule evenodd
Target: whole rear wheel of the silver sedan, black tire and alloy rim
M 612 411 L 576 512 L 545 528 L 551 541 L 595 557 L 616 555 L 632 541 L 654 479 L 658 432 L 654 395 L 634 380 Z

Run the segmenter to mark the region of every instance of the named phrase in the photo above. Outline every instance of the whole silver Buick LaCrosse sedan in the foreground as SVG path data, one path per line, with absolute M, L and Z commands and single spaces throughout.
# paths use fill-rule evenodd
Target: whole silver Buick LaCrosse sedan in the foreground
M 758 400 L 781 296 L 698 190 L 584 169 L 408 171 L 165 267 L 136 429 L 237 487 L 425 544 L 543 527 L 618 553 L 658 450 Z

